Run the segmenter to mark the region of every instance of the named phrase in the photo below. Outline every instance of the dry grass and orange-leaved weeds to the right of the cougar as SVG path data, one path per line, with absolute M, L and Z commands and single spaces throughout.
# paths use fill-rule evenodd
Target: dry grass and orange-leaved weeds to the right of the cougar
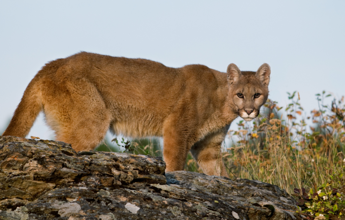
M 299 95 L 298 95 L 299 96 Z M 344 159 L 344 97 L 325 105 L 325 92 L 317 94 L 319 109 L 311 112 L 307 125 L 296 93 L 282 108 L 268 100 L 264 113 L 252 123 L 229 131 L 233 146 L 224 153 L 230 177 L 257 179 L 275 184 L 289 193 L 294 188 L 314 189 L 327 179 L 330 169 Z M 314 191 L 314 192 L 315 192 Z

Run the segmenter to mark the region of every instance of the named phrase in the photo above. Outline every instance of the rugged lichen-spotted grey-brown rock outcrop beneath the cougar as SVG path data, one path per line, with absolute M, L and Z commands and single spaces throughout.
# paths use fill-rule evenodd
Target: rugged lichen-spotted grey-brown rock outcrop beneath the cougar
M 0 219 L 302 219 L 296 210 L 285 190 L 256 180 L 165 173 L 158 157 L 0 136 Z

